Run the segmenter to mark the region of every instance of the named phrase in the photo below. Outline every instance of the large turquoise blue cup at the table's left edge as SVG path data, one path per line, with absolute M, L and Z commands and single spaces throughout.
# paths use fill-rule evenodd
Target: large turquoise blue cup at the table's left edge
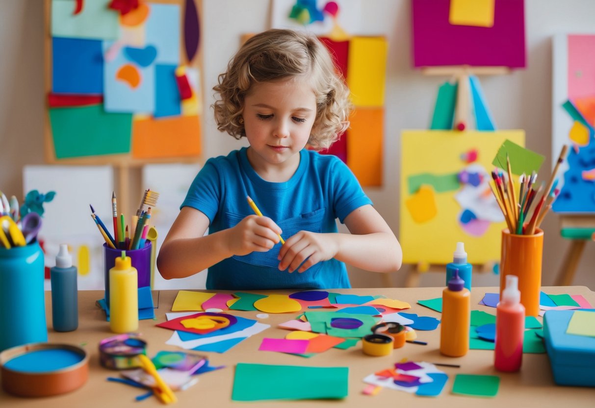
M 0 248 L 0 351 L 48 341 L 43 269 L 37 241 Z

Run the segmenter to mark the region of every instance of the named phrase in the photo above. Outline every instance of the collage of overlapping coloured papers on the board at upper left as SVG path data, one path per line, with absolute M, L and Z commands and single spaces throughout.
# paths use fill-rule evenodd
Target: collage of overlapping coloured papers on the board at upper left
M 106 164 L 111 155 L 198 156 L 200 72 L 189 65 L 199 46 L 198 16 L 182 35 L 181 1 L 142 2 L 127 13 L 110 3 L 85 2 L 73 14 L 73 2 L 51 2 L 52 156 L 108 156 Z

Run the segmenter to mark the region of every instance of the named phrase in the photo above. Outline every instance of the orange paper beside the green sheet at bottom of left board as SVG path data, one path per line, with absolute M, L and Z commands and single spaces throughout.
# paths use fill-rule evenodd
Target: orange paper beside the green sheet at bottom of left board
M 134 120 L 132 128 L 134 158 L 168 158 L 201 154 L 201 122 L 196 115 Z

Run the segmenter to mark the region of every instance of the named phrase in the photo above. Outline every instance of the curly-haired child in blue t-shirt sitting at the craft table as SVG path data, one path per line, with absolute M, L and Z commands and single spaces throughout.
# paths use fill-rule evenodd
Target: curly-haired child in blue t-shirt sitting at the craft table
M 196 176 L 159 252 L 164 278 L 209 268 L 208 289 L 349 288 L 344 262 L 400 268 L 397 238 L 349 168 L 305 149 L 337 140 L 351 108 L 316 37 L 290 30 L 253 36 L 214 90 L 218 129 L 250 146 L 209 159 Z M 336 218 L 351 234 L 337 233 Z

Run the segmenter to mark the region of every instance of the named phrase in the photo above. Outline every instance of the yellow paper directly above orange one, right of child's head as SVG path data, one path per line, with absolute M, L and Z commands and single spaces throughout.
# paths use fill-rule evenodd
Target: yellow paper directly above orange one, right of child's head
M 384 37 L 352 37 L 349 41 L 347 85 L 356 107 L 384 105 L 387 50 Z

